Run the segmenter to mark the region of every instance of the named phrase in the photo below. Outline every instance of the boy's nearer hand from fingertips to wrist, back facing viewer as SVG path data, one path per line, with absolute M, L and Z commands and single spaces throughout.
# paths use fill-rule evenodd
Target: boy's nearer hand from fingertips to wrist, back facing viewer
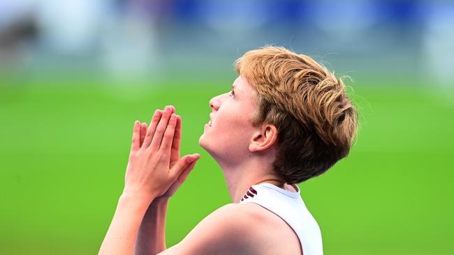
M 173 149 L 173 164 L 170 164 L 176 127 L 177 116 L 173 114 L 171 107 L 166 107 L 164 111 L 156 110 L 140 144 L 142 125 L 138 121 L 134 123 L 124 194 L 133 194 L 139 199 L 151 202 L 154 198 L 165 194 L 180 174 L 191 163 L 198 160 L 200 157 L 198 154 L 186 155 L 182 158 L 177 158 L 179 155 L 175 157 L 175 153 L 180 153 L 178 142 L 178 148 Z

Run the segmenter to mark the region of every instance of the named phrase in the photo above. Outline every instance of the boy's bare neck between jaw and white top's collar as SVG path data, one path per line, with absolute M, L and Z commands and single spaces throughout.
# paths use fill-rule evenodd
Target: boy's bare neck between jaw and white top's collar
M 277 187 L 284 188 L 284 181 L 272 172 L 270 162 L 263 159 L 251 159 L 240 164 L 228 164 L 219 162 L 226 184 L 228 193 L 233 203 L 241 200 L 244 193 L 251 187 L 259 183 L 271 183 Z

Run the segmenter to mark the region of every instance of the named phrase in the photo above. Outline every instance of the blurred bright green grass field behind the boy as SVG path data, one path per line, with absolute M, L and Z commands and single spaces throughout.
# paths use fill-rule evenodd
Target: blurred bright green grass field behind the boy
M 201 154 L 170 200 L 168 247 L 231 202 L 221 170 L 198 146 L 208 100 L 231 80 L 73 83 L 0 84 L 0 254 L 96 254 L 122 192 L 133 121 L 149 122 L 167 104 L 183 119 L 182 153 Z M 454 254 L 454 91 L 351 85 L 356 145 L 300 184 L 325 254 Z

